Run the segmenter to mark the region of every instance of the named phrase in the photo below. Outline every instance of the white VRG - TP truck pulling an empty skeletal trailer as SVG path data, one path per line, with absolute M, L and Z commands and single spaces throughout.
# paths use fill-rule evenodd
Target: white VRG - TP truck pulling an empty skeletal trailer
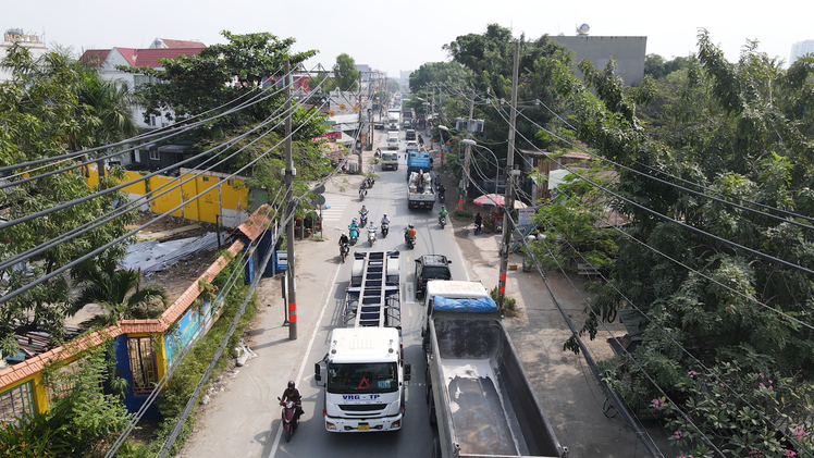
M 402 348 L 398 251 L 356 252 L 344 321 L 331 332 L 329 351 L 314 366 L 322 382 L 323 418 L 334 433 L 398 431 L 409 364 Z

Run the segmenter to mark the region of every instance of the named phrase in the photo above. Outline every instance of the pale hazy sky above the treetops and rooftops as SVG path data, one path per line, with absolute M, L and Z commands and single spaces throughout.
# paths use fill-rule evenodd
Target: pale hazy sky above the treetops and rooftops
M 316 49 L 308 62 L 331 67 L 346 52 L 356 63 L 398 76 L 425 62 L 447 61 L 441 49 L 459 35 L 482 34 L 490 23 L 527 38 L 576 35 L 588 24 L 593 36 L 645 36 L 648 53 L 666 59 L 696 49 L 699 27 L 710 30 L 726 58 L 736 61 L 747 39 L 757 39 L 769 57 L 789 61 L 791 45 L 814 39 L 814 1 L 684 0 L 540 1 L 281 1 L 99 0 L 8 1 L 0 28 L 42 35 L 47 44 L 84 49 L 146 48 L 157 38 L 223 42 L 234 34 L 271 32 L 294 37 L 296 51 Z M 217 7 L 212 7 L 217 4 Z M 801 24 L 793 25 L 795 21 Z M 804 24 L 809 24 L 807 26 Z

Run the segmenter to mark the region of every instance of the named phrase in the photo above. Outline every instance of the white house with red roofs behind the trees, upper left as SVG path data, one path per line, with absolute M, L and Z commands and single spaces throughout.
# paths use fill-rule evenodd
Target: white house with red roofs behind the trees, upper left
M 147 66 L 156 70 L 163 70 L 159 59 L 176 59 L 178 55 L 197 55 L 206 46 L 200 41 L 171 40 L 165 38 L 156 38 L 149 48 L 112 48 L 112 49 L 89 49 L 79 58 L 81 62 L 91 63 L 101 66 L 101 75 L 108 81 L 119 81 L 128 88 L 135 88 L 146 83 L 156 83 L 152 76 L 127 73 L 116 69 L 116 66 Z M 150 115 L 145 122 L 145 110 L 141 107 L 133 107 L 133 116 L 143 128 L 159 128 L 172 124 L 172 121 L 164 115 Z

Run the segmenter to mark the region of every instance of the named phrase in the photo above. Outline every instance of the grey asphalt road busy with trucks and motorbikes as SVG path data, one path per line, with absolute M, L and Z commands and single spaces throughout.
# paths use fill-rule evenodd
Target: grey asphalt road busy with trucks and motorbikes
M 384 150 L 384 138 L 377 131 L 375 143 Z M 404 139 L 404 131 L 400 131 Z M 402 141 L 404 145 L 404 140 Z M 299 323 L 297 339 L 288 338 L 289 329 L 282 326 L 283 304 L 279 281 L 263 280 L 259 288 L 261 304 L 268 307 L 258 318 L 251 332 L 252 349 L 259 355 L 239 368 L 239 372 L 215 393 L 202 408 L 195 433 L 183 451 L 185 457 L 358 457 L 387 454 L 394 457 L 424 457 L 431 450 L 432 432 L 424 400 L 424 362 L 420 344 L 422 307 L 415 300 L 415 259 L 424 253 L 443 253 L 453 261 L 455 278 L 468 280 L 467 269 L 455 243 L 452 226 L 442 230 L 437 224 L 436 203 L 432 212 L 407 208 L 406 162 L 399 157 L 397 171 L 382 172 L 368 191 L 363 203 L 370 221 L 377 225 L 383 213 L 391 219 L 386 238 L 378 234 L 371 248 L 362 232 L 361 239 L 351 247 L 348 262 L 342 264 L 336 240 L 346 232 L 351 218 L 358 215 L 362 201 L 357 195 L 360 176 L 337 178 L 326 186 L 325 197 L 332 213 L 324 218 L 325 242 L 298 242 L 297 304 Z M 367 152 L 366 152 L 367 156 Z M 365 169 L 368 169 L 366 163 Z M 334 202 L 334 203 L 331 203 Z M 411 223 L 417 230 L 415 249 L 404 245 L 404 227 Z M 342 326 L 345 287 L 350 278 L 353 252 L 400 250 L 402 329 L 405 363 L 412 364 L 412 380 L 407 389 L 407 409 L 402 431 L 394 433 L 335 434 L 325 431 L 322 421 L 321 388 L 313 380 L 313 364 L 328 349 L 330 331 Z M 280 434 L 280 407 L 276 397 L 285 389 L 287 380 L 295 380 L 306 413 L 289 443 Z

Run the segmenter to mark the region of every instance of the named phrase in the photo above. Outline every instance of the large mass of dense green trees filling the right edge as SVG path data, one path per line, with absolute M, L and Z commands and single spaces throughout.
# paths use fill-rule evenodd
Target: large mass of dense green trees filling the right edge
M 784 71 L 754 42 L 730 63 L 702 30 L 698 61 L 668 75 L 669 85 L 655 84 L 656 91 L 677 89 L 653 98 L 668 100 L 650 119 L 673 122 L 669 129 L 650 129 L 642 122 L 633 97 L 638 92 L 626 90 L 614 76 L 613 62 L 603 70 L 582 62 L 584 84 L 567 67 L 557 70 L 557 89 L 568 98 L 578 137 L 602 157 L 645 174 L 617 171 L 617 194 L 628 200 L 616 206 L 630 218 L 626 234 L 639 242 L 620 246 L 612 280 L 587 310 L 591 318 L 582 332 L 595 336 L 599 320 L 615 317 L 624 305 L 646 313 L 643 341 L 633 354 L 638 364 L 627 356 L 608 361 L 603 364 L 606 380 L 630 405 L 661 393 L 650 379 L 657 381 L 670 394 L 662 401 L 687 411 L 703 428 L 702 434 L 686 434 L 679 442 L 692 456 L 711 456 L 707 438 L 732 456 L 780 456 L 790 444 L 797 451 L 811 451 L 811 443 L 791 432 L 807 420 L 811 387 L 789 387 L 788 395 L 776 399 L 781 406 L 773 407 L 757 374 L 788 380 L 811 367 L 814 282 L 725 242 L 814 267 L 811 230 L 792 224 L 790 216 L 767 214 L 782 216 L 773 210 L 779 209 L 814 215 L 809 123 L 799 117 L 811 114 L 810 66 L 811 61 Z M 688 374 L 708 382 L 691 384 Z M 761 406 L 763 416 L 742 407 L 745 403 Z M 681 419 L 669 421 L 684 434 L 689 424 Z M 776 440 L 779 431 L 787 435 L 782 443 Z

